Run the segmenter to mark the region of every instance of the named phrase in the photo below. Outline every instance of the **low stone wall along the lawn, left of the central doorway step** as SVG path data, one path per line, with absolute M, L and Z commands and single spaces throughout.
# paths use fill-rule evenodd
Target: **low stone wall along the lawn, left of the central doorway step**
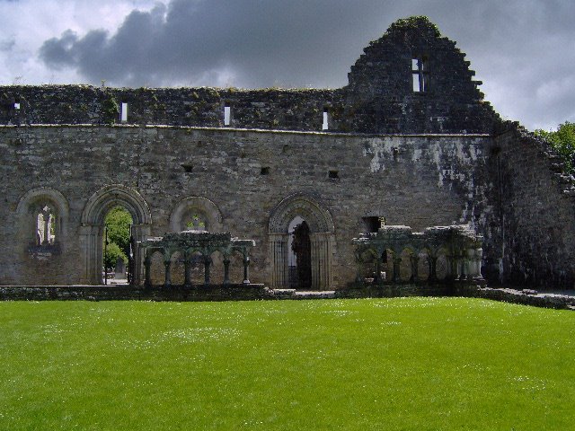
M 0 286 L 2 301 L 252 301 L 275 299 L 267 287 L 210 285 L 184 288 L 119 286 Z

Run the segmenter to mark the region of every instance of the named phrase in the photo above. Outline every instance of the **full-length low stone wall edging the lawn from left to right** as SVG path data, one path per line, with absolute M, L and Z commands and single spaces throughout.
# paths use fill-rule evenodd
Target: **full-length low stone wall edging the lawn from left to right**
M 254 301 L 399 296 L 463 296 L 558 310 L 575 310 L 575 296 L 478 285 L 351 285 L 329 292 L 272 290 L 261 284 L 184 288 L 119 286 L 0 286 L 0 301 Z

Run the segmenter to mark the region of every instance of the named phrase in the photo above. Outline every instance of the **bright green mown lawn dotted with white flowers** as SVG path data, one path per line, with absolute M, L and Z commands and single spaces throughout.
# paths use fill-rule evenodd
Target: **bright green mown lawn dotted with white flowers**
M 575 429 L 575 312 L 0 303 L 0 429 Z

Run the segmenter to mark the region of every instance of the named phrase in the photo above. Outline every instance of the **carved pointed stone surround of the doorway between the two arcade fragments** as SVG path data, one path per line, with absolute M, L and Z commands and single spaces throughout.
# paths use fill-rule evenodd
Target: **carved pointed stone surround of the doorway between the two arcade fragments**
M 332 249 L 334 226 L 332 215 L 314 198 L 296 193 L 279 202 L 270 215 L 271 286 L 288 287 L 289 224 L 296 216 L 309 226 L 311 241 L 312 286 L 314 290 L 332 289 Z

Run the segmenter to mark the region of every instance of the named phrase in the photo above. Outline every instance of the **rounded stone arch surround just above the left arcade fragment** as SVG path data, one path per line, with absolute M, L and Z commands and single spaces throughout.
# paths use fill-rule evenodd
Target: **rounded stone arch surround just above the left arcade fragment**
M 188 229 L 187 222 L 191 215 L 198 214 L 205 223 L 205 229 L 210 232 L 221 232 L 222 213 L 217 205 L 207 198 L 191 196 L 180 201 L 173 208 L 170 216 L 170 230 L 174 233 Z

